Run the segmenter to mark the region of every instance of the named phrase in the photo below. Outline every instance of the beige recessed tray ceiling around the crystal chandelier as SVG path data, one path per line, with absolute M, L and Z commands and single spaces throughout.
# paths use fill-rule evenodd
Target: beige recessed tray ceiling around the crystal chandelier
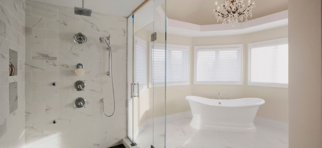
M 167 17 L 198 25 L 220 24 L 222 22 L 217 23 L 217 19 L 212 14 L 216 1 L 220 5 L 223 4 L 224 0 L 167 0 Z M 244 1 L 245 3 L 248 2 L 247 0 Z M 256 4 L 251 19 L 288 9 L 288 0 L 251 0 L 251 2 Z M 165 10 L 164 6 L 162 9 Z

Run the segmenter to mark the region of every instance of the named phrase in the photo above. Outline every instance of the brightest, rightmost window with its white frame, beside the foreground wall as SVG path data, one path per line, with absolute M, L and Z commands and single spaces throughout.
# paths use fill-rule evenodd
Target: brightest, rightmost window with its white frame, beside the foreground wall
M 288 38 L 248 44 L 248 85 L 288 87 Z

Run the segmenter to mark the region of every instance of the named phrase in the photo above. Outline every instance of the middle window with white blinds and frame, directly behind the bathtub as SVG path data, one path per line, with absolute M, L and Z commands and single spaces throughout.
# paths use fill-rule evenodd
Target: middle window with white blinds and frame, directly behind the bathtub
M 194 46 L 194 84 L 242 85 L 242 45 Z

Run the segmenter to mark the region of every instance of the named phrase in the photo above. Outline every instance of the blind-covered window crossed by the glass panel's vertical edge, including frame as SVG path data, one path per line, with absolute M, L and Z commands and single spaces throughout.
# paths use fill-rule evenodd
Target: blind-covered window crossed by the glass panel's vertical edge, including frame
M 152 45 L 154 44 L 154 48 Z M 189 46 L 150 43 L 150 87 L 189 84 Z M 153 79 L 153 82 L 152 82 Z

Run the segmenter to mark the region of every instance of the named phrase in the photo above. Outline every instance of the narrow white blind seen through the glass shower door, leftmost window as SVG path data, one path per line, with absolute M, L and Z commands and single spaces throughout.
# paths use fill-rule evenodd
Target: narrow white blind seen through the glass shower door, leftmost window
M 147 87 L 147 43 L 141 38 L 135 37 L 135 83 L 139 82 L 140 91 Z

